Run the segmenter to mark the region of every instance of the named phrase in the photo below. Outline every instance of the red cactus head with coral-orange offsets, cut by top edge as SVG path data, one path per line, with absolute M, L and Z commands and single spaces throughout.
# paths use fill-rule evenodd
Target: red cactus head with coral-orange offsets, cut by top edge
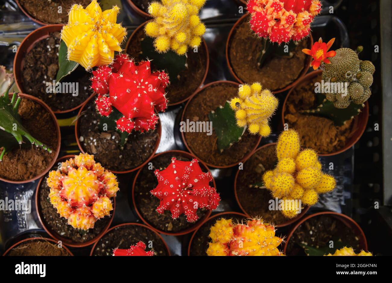
M 310 23 L 321 12 L 319 0 L 249 0 L 251 29 L 271 42 L 298 41 L 309 35 Z

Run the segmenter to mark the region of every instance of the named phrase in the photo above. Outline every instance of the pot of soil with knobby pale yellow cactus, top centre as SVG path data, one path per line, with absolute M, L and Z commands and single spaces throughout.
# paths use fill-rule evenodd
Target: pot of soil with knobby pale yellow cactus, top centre
M 202 38 L 205 25 L 198 17 L 205 0 L 170 0 L 148 6 L 152 20 L 140 25 L 128 39 L 126 52 L 171 78 L 169 106 L 180 104 L 196 91 L 207 76 L 209 53 Z M 178 16 L 177 16 L 178 15 Z

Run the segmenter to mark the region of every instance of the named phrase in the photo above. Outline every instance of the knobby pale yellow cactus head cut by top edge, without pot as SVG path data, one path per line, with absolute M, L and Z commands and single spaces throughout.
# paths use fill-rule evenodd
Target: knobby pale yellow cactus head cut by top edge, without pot
M 205 25 L 198 16 L 206 0 L 162 0 L 152 2 L 148 12 L 154 18 L 145 25 L 145 33 L 155 38 L 154 47 L 159 53 L 169 49 L 178 55 L 187 52 L 188 47 L 201 44 Z

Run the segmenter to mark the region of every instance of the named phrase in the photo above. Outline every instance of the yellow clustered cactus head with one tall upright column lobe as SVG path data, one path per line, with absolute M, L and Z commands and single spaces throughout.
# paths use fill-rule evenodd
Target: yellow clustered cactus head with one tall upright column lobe
M 320 193 L 330 192 L 336 186 L 334 177 L 321 171 L 317 152 L 300 147 L 295 130 L 283 131 L 276 145 L 278 164 L 263 174 L 264 185 L 272 196 L 285 201 L 281 212 L 287 218 L 296 217 L 298 209 L 288 204 L 286 207 L 286 200 L 301 200 L 302 204 L 312 206 L 318 202 Z

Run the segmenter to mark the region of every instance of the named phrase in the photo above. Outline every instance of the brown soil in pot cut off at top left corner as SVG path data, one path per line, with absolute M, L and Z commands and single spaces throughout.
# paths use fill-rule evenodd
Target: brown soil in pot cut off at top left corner
M 73 4 L 81 4 L 86 7 L 91 0 L 19 0 L 19 4 L 33 18 L 44 23 L 67 23 L 68 11 Z M 59 6 L 61 12 L 59 13 Z

